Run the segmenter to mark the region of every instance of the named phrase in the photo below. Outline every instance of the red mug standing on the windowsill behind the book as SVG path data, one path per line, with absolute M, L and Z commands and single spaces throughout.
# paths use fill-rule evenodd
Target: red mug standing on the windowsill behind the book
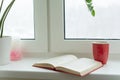
M 107 42 L 94 42 L 93 43 L 93 57 L 94 60 L 106 64 L 109 54 L 109 44 Z

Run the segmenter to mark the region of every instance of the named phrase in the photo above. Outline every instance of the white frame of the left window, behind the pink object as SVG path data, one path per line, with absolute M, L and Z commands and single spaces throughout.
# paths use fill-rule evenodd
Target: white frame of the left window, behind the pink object
M 33 0 L 35 40 L 21 40 L 27 56 L 48 52 L 47 0 Z

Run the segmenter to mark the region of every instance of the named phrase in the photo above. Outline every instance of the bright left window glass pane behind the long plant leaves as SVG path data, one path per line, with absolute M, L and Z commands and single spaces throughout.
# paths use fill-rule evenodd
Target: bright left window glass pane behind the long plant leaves
M 3 8 L 10 1 L 4 0 Z M 34 39 L 33 20 L 33 0 L 16 0 L 6 18 L 4 35 Z

